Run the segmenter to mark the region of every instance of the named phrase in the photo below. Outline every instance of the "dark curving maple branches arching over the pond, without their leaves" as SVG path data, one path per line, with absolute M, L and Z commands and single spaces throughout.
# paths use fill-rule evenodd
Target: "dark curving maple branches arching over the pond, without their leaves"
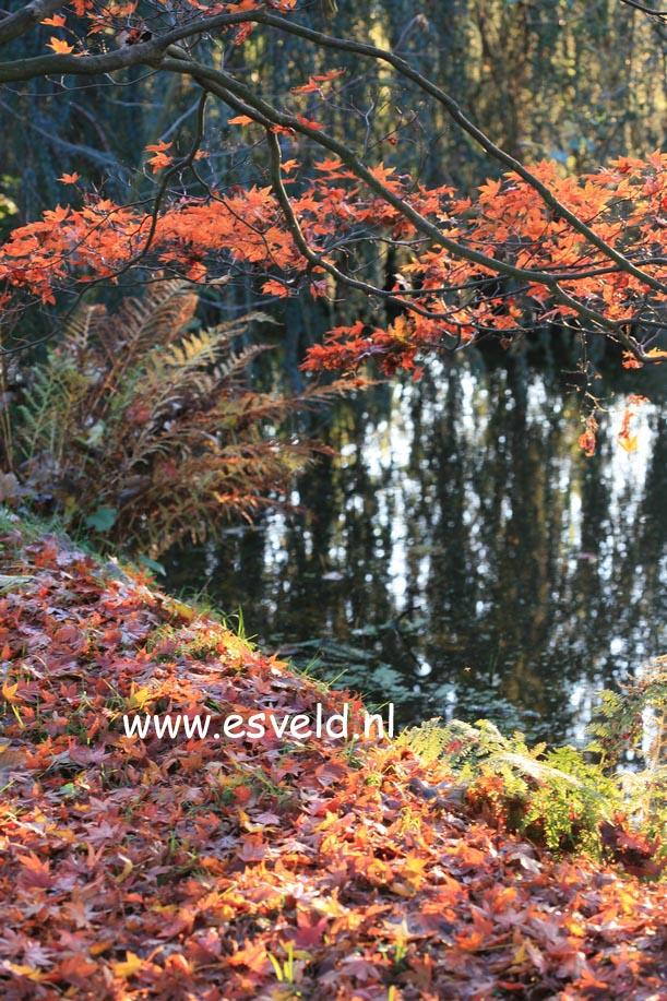
M 641 4 L 634 2 L 634 0 L 622 0 L 622 2 L 640 7 L 641 9 Z M 44 20 L 46 15 L 61 7 L 64 7 L 61 0 L 33 0 L 33 2 L 26 4 L 21 11 L 0 20 L 0 44 L 5 44 L 28 31 L 31 27 L 34 27 L 34 25 Z M 659 15 L 658 12 L 651 11 L 650 9 L 646 9 L 646 12 Z M 585 305 L 580 299 L 574 298 L 563 289 L 563 283 L 581 281 L 584 275 L 589 275 L 593 271 L 589 265 L 587 271 L 581 270 L 579 272 L 574 269 L 568 272 L 555 272 L 549 270 L 520 267 L 516 264 L 499 260 L 496 257 L 489 255 L 489 253 L 476 250 L 469 243 L 456 242 L 451 237 L 448 237 L 442 228 L 419 212 L 418 208 L 410 203 L 407 195 L 396 193 L 388 183 L 383 182 L 373 170 L 366 165 L 361 156 L 353 148 L 345 145 L 345 143 L 334 139 L 320 128 L 310 127 L 305 123 L 303 119 L 300 117 L 281 111 L 278 108 L 258 96 L 251 87 L 243 84 L 233 74 L 223 69 L 213 69 L 196 62 L 178 46 L 180 41 L 211 35 L 215 31 L 223 31 L 243 23 L 260 24 L 267 28 L 273 28 L 277 32 L 302 38 L 319 48 L 329 48 L 338 52 L 360 56 L 391 65 L 401 79 L 410 81 L 424 94 L 428 95 L 443 107 L 452 120 L 456 122 L 466 134 L 474 139 L 489 156 L 493 157 L 510 171 L 521 177 L 525 183 L 537 193 L 543 203 L 551 210 L 555 218 L 562 219 L 567 223 L 574 231 L 579 233 L 580 236 L 585 239 L 588 247 L 595 248 L 599 254 L 603 254 L 612 262 L 609 271 L 622 271 L 634 277 L 646 289 L 651 289 L 662 296 L 667 295 L 667 284 L 654 277 L 652 274 L 648 274 L 641 266 L 638 266 L 636 262 L 626 257 L 626 254 L 619 250 L 616 250 L 605 239 L 598 236 L 588 223 L 570 211 L 528 168 L 524 167 L 519 160 L 505 153 L 500 146 L 495 144 L 485 132 L 478 129 L 464 115 L 458 104 L 450 94 L 415 70 L 409 62 L 400 57 L 395 51 L 313 31 L 265 10 L 243 10 L 237 11 L 236 13 L 218 14 L 213 17 L 200 17 L 199 20 L 179 24 L 164 32 L 162 36 L 155 36 L 145 41 L 140 41 L 139 44 L 123 45 L 114 51 L 96 55 L 83 52 L 80 55 L 56 53 L 38 56 L 31 59 L 20 59 L 14 62 L 3 62 L 0 64 L 0 82 L 10 83 L 26 81 L 36 76 L 48 76 L 50 74 L 91 76 L 96 74 L 108 74 L 117 70 L 135 65 L 146 65 L 154 70 L 177 72 L 181 75 L 187 75 L 195 81 L 204 91 L 201 105 L 202 122 L 205 93 L 211 92 L 225 100 L 230 107 L 241 109 L 243 114 L 249 115 L 250 118 L 264 128 L 270 148 L 271 180 L 276 200 L 293 239 L 295 240 L 295 245 L 311 266 L 322 267 L 337 281 L 345 283 L 349 287 L 357 288 L 367 295 L 381 297 L 386 301 L 400 305 L 402 308 L 410 309 L 413 312 L 428 317 L 429 319 L 440 319 L 445 315 L 451 315 L 451 310 L 445 314 L 433 313 L 429 312 L 428 309 L 425 309 L 417 302 L 407 301 L 406 297 L 408 295 L 414 295 L 415 297 L 421 295 L 424 298 L 428 298 L 429 295 L 432 296 L 433 293 L 430 289 L 410 289 L 406 290 L 405 297 L 403 295 L 396 296 L 391 290 L 377 288 L 370 283 L 345 274 L 345 272 L 323 258 L 322 254 L 317 253 L 308 245 L 283 184 L 279 144 L 273 131 L 276 126 L 305 135 L 321 148 L 334 153 L 341 162 L 346 165 L 352 175 L 362 181 L 379 199 L 395 208 L 396 212 L 415 227 L 418 234 L 427 237 L 429 241 L 442 248 L 452 257 L 473 263 L 496 275 L 505 275 L 524 283 L 539 283 L 551 293 L 557 301 L 569 306 L 582 320 L 594 324 L 597 329 L 610 332 L 614 337 L 624 344 L 624 346 L 627 346 L 638 358 L 641 360 L 648 360 L 642 350 L 642 346 L 634 337 L 626 332 L 626 327 L 632 322 L 632 318 L 611 320 L 589 305 Z M 201 136 L 199 141 L 201 141 Z M 169 167 L 163 176 L 154 198 L 153 210 L 148 217 L 148 233 L 142 250 L 139 251 L 138 254 L 134 254 L 134 257 L 115 275 L 106 275 L 104 278 L 99 277 L 94 279 L 94 282 L 90 283 L 88 287 L 97 281 L 108 281 L 109 277 L 122 274 L 146 257 L 153 243 L 159 212 L 168 190 L 169 180 L 174 177 L 175 172 L 188 166 L 190 166 L 193 171 L 195 170 L 193 163 L 194 152 L 191 152 L 183 160 Z M 646 260 L 642 263 L 650 265 L 655 262 Z M 604 273 L 603 267 L 594 270 L 597 271 L 597 273 Z M 484 281 L 484 278 L 480 278 L 480 281 Z

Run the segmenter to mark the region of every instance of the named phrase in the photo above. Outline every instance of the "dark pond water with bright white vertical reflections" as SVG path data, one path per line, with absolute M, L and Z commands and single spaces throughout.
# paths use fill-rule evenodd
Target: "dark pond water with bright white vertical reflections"
M 586 458 L 562 385 L 434 364 L 330 415 L 341 457 L 293 498 L 310 520 L 171 553 L 168 586 L 205 585 L 264 647 L 402 723 L 581 742 L 595 692 L 667 645 L 667 428 L 641 407 L 627 454 L 623 403 L 607 395 Z

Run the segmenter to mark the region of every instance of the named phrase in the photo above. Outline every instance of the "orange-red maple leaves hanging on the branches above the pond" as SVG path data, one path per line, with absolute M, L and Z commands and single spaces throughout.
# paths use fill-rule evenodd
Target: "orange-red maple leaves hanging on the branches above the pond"
M 310 129 L 319 128 L 310 119 L 299 120 Z M 229 121 L 245 124 L 250 119 L 236 116 Z M 155 170 L 171 164 L 167 148 L 166 143 L 148 147 Z M 322 270 L 338 259 L 333 248 L 346 250 L 344 260 L 354 273 L 354 248 L 361 233 L 368 241 L 390 238 L 412 243 L 412 257 L 400 267 L 391 290 L 394 306 L 403 311 L 372 330 L 352 324 L 332 331 L 323 347 L 310 350 L 307 369 L 354 371 L 373 358 L 391 373 L 414 369 L 418 356 L 429 351 L 456 348 L 490 334 L 509 346 L 537 325 L 583 326 L 599 334 L 609 332 L 604 323 L 611 323 L 617 325 L 614 337 L 615 329 L 641 330 L 642 322 L 650 322 L 648 333 L 653 333 L 667 323 L 667 296 L 659 286 L 651 287 L 642 275 L 611 262 L 516 175 L 489 180 L 475 200 L 462 200 L 451 188 L 426 189 L 383 164 L 369 168 L 380 191 L 361 186 L 335 157 L 314 166 L 314 179 L 290 200 L 290 207 L 322 269 L 312 262 L 308 266 L 295 245 L 295 226 L 285 219 L 270 187 L 233 187 L 206 200 L 184 199 L 166 207 L 154 227 L 140 211 L 103 200 L 45 213 L 38 222 L 16 229 L 0 249 L 0 281 L 53 302 L 58 289 L 92 277 L 112 278 L 139 255 L 148 266 L 167 267 L 194 282 L 221 270 L 227 273 L 230 264 L 246 264 L 262 273 L 272 295 L 291 295 L 307 282 L 318 296 L 327 294 Z M 597 238 L 639 262 L 652 281 L 667 283 L 663 225 L 667 154 L 643 160 L 620 158 L 581 179 L 563 178 L 546 162 L 533 171 Z M 68 177 L 63 175 L 63 181 Z M 521 269 L 529 279 L 523 285 L 512 283 L 452 248 L 428 246 L 409 213 L 393 199 L 438 226 L 462 251 L 474 250 Z M 146 248 L 148 234 L 152 243 Z M 150 253 L 144 253 L 146 249 Z M 555 275 L 560 296 L 550 281 Z M 576 307 L 584 311 L 583 319 Z M 660 364 L 666 356 L 667 351 L 653 347 L 642 358 Z M 624 353 L 626 367 L 642 364 L 631 351 Z M 586 433 L 583 446 L 591 452 L 592 437 Z

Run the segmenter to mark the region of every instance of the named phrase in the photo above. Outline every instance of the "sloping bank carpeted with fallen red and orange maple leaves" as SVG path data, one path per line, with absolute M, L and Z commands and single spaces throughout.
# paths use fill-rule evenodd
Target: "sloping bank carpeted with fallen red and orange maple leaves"
M 53 538 L 0 574 L 3 1001 L 667 998 L 664 885 L 466 818 L 388 740 L 129 739 L 360 705 Z

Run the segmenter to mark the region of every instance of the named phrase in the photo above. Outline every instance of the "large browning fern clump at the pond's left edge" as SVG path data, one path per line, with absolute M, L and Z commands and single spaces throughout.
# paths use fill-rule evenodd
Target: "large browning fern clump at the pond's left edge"
M 269 426 L 358 385 L 253 391 L 246 370 L 267 346 L 236 350 L 235 339 L 267 318 L 202 330 L 196 306 L 190 285 L 164 282 L 112 315 L 82 311 L 37 370 L 15 432 L 35 494 L 72 526 L 152 557 L 288 508 L 294 473 L 330 450 Z

